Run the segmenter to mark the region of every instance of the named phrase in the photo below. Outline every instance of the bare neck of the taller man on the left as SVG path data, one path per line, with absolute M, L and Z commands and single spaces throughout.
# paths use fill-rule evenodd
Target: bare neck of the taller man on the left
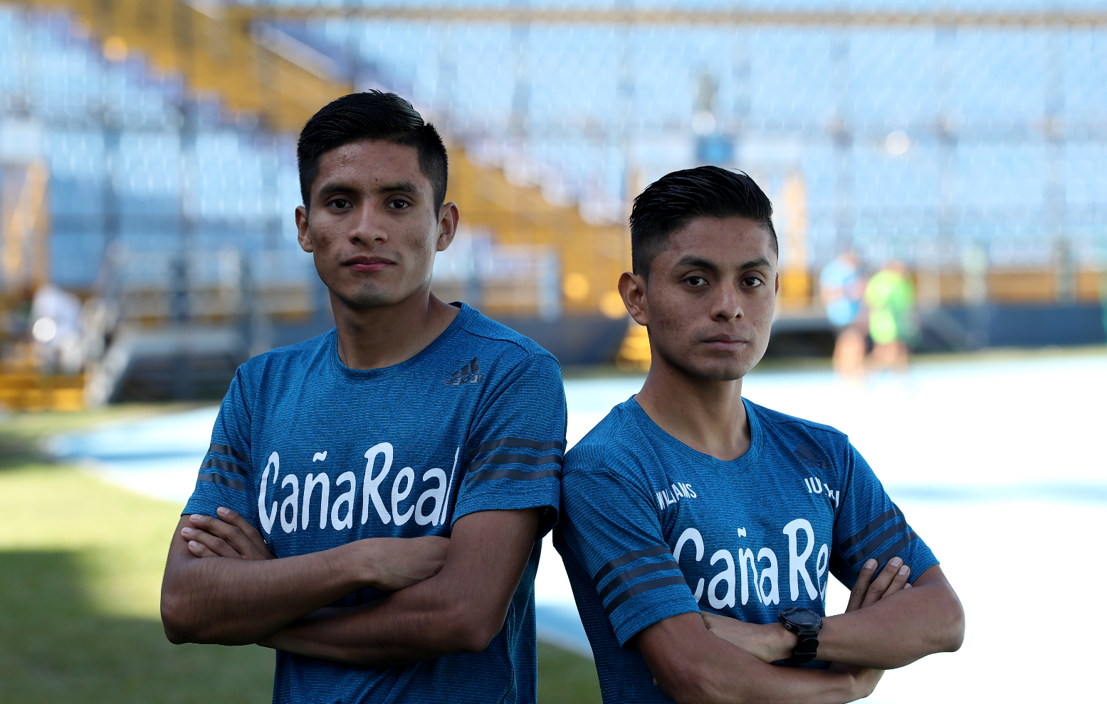
M 355 308 L 331 292 L 339 359 L 351 369 L 380 369 L 411 359 L 433 343 L 458 309 L 443 303 L 430 287 L 403 301 Z

